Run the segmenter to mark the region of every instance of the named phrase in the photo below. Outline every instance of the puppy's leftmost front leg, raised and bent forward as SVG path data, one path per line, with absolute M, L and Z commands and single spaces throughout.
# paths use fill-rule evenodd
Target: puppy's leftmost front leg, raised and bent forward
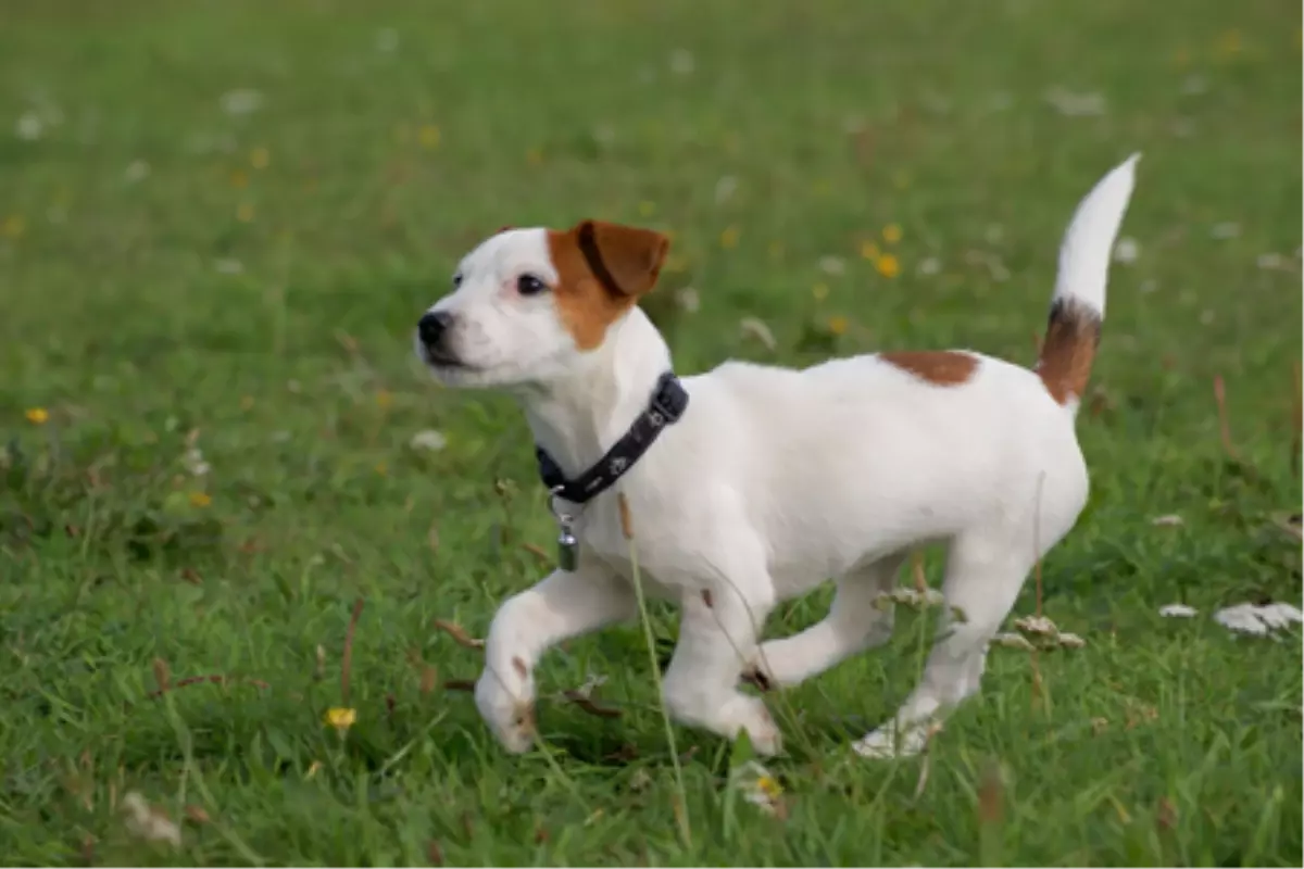
M 632 589 L 591 556 L 574 573 L 554 571 L 507 599 L 485 640 L 476 707 L 503 747 L 520 753 L 535 740 L 535 664 L 552 646 L 630 619 Z

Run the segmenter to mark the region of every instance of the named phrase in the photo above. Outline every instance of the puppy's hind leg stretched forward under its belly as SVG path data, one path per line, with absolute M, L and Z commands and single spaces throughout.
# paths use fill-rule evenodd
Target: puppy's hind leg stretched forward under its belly
M 892 607 L 876 601 L 892 590 L 905 554 L 893 554 L 846 573 L 837 581 L 824 619 L 801 633 L 763 642 L 743 679 L 762 688 L 797 685 L 866 649 L 892 638 Z

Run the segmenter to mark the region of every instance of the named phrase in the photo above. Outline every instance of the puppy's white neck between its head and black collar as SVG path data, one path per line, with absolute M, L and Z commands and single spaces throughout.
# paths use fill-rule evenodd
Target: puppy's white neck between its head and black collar
M 629 431 L 648 406 L 670 349 L 652 321 L 632 307 L 606 340 L 565 378 L 522 395 L 535 443 L 575 478 Z

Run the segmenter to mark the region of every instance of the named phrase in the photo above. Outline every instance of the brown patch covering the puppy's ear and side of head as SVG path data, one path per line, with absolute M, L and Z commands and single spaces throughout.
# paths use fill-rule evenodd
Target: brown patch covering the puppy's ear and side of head
M 602 344 L 608 327 L 648 293 L 661 274 L 670 240 L 652 229 L 584 220 L 549 231 L 557 268 L 557 313 L 582 350 Z

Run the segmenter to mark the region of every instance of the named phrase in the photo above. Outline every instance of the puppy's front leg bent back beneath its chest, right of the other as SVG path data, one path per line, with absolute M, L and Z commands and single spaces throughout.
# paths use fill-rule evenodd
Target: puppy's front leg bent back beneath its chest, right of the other
M 665 674 L 665 705 L 685 724 L 734 739 L 747 731 L 760 754 L 780 750 L 780 734 L 765 702 L 738 692 L 738 675 L 756 653 L 756 634 L 773 597 L 738 588 L 683 594 L 679 642 Z

